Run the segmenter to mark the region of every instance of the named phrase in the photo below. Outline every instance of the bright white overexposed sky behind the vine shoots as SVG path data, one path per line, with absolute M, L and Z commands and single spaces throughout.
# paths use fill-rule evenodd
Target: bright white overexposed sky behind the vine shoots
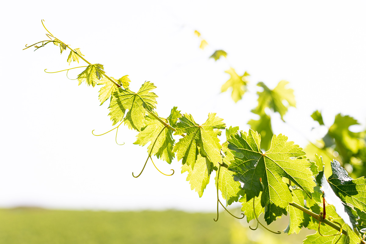
M 132 144 L 137 132 L 111 129 L 107 102 L 99 106 L 100 87 L 77 86 L 66 74 L 68 52 L 52 44 L 36 52 L 25 44 L 46 40 L 41 19 L 57 38 L 80 48 L 109 76 L 130 75 L 131 89 L 145 80 L 157 89 L 157 112 L 173 106 L 203 123 L 216 112 L 229 126 L 247 130 L 256 105 L 255 84 L 273 89 L 288 80 L 296 109 L 285 120 L 273 115 L 273 130 L 306 146 L 321 137 L 310 118 L 323 112 L 330 126 L 341 112 L 366 123 L 366 4 L 352 1 L 6 1 L 0 16 L 1 159 L 0 207 L 35 205 L 57 209 L 183 209 L 215 211 L 214 179 L 203 197 L 190 190 L 180 163 L 155 160 L 167 177 L 146 160 L 146 146 Z M 5 6 L 4 6 L 5 4 Z M 201 32 L 210 46 L 198 48 Z M 5 39 L 7 38 L 7 39 Z M 228 60 L 208 57 L 224 49 Z M 70 67 L 76 67 L 71 64 Z M 81 65 L 84 65 L 81 62 Z M 250 93 L 237 104 L 220 94 L 230 65 L 249 72 Z M 82 70 L 69 72 L 75 77 Z M 355 128 L 357 129 L 357 128 Z M 179 137 L 176 137 L 178 140 Z

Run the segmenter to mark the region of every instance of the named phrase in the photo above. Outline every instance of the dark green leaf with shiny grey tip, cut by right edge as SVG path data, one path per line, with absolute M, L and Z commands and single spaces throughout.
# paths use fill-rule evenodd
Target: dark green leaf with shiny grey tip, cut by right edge
M 333 174 L 328 178 L 328 183 L 335 194 L 346 203 L 366 211 L 366 179 L 362 176 L 352 179 L 340 163 L 333 159 L 330 163 Z

